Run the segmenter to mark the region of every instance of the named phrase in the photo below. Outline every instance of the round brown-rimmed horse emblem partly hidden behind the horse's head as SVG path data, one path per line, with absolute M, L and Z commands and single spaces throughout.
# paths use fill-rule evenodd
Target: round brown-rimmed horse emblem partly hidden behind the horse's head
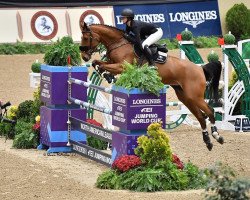
M 80 17 L 79 23 L 82 22 L 85 22 L 88 26 L 91 24 L 104 24 L 102 16 L 94 10 L 85 11 Z

